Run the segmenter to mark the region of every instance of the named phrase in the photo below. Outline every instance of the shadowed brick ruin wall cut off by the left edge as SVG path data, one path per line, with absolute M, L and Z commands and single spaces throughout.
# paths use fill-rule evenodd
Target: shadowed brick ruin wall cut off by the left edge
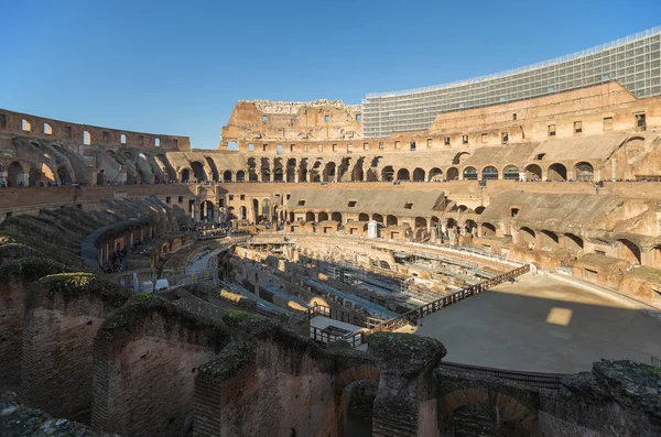
M 7 252 L 21 256 L 3 260 Z M 23 315 L 28 286 L 42 276 L 64 272 L 66 267 L 43 258 L 22 244 L 0 247 L 0 385 L 21 383 Z

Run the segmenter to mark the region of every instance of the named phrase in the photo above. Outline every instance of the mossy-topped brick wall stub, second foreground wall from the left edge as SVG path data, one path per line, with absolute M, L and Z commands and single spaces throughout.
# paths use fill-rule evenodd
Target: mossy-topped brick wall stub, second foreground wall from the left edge
M 88 411 L 95 335 L 129 295 L 90 273 L 61 273 L 34 283 L 25 304 L 21 398 L 56 416 Z

